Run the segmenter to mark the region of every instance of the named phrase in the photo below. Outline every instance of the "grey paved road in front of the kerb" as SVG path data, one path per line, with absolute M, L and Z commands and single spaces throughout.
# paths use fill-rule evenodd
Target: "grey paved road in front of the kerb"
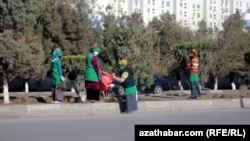
M 0 120 L 0 141 L 133 141 L 135 124 L 249 124 L 250 109 Z

